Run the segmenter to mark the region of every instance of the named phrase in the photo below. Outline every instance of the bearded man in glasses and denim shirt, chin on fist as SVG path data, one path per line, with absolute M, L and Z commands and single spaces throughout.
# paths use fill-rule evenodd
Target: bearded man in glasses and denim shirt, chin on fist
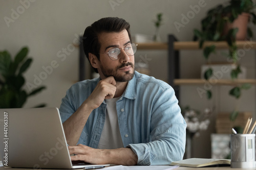
M 130 25 L 102 18 L 84 31 L 84 53 L 100 78 L 74 84 L 60 115 L 71 160 L 164 165 L 181 160 L 186 123 L 172 87 L 134 70 Z

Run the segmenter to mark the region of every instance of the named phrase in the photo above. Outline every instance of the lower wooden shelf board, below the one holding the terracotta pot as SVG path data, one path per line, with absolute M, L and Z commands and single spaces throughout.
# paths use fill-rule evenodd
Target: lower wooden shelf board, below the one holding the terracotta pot
M 239 79 L 239 80 L 216 80 L 212 79 L 207 82 L 204 79 L 175 79 L 175 85 L 203 85 L 203 84 L 211 84 L 211 85 L 238 85 L 244 83 L 256 84 L 255 79 Z

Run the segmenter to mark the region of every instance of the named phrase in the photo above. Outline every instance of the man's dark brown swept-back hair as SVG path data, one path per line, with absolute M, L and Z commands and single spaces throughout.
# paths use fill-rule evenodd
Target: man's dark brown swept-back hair
M 83 34 L 83 51 L 86 54 L 86 57 L 89 60 L 89 53 L 94 54 L 99 59 L 99 50 L 100 43 L 98 36 L 100 33 L 112 33 L 112 32 L 121 32 L 126 30 L 130 41 L 132 42 L 131 33 L 130 33 L 130 24 L 122 18 L 118 17 L 106 17 L 101 18 L 98 21 L 94 22 L 91 26 L 87 27 L 84 30 Z M 90 60 L 89 60 L 90 62 Z M 91 64 L 91 62 L 90 62 Z M 98 72 L 97 68 L 93 68 L 95 72 Z

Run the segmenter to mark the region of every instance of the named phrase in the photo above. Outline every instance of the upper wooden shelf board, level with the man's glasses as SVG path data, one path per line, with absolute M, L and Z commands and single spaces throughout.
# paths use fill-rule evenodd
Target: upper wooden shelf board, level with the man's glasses
M 237 41 L 238 48 L 244 48 L 248 51 L 256 49 L 256 41 Z M 138 50 L 167 50 L 168 43 L 166 42 L 151 42 L 151 43 L 137 43 Z M 204 46 L 216 45 L 216 48 L 227 49 L 226 41 L 205 41 Z M 174 42 L 175 50 L 199 50 L 199 41 L 176 41 Z

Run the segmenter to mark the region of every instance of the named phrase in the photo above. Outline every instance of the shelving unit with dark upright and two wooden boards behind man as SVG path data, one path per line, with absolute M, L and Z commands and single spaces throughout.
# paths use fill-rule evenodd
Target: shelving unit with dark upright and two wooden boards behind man
M 237 41 L 238 48 L 256 49 L 255 41 Z M 217 49 L 227 49 L 226 41 L 207 41 L 205 46 L 215 45 Z M 200 85 L 205 84 L 203 79 L 180 79 L 179 72 L 179 51 L 180 50 L 201 50 L 198 41 L 177 41 L 173 35 L 168 36 L 168 43 L 138 43 L 138 50 L 168 50 L 168 84 L 173 86 L 176 96 L 179 99 L 180 85 Z M 256 84 L 255 79 L 239 80 L 214 80 L 214 85 L 238 85 L 243 83 Z

